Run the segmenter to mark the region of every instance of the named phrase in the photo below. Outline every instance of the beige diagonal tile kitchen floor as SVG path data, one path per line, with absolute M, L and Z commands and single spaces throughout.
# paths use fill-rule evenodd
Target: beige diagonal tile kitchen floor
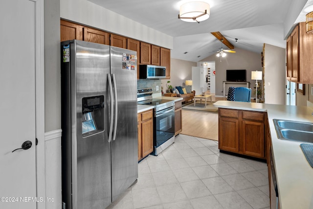
M 218 141 L 180 134 L 138 167 L 109 209 L 269 209 L 267 164 L 220 153 Z

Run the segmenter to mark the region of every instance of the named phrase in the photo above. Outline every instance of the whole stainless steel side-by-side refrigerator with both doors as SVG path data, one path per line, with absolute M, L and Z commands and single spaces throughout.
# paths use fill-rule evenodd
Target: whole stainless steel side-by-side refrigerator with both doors
M 105 209 L 138 177 L 136 52 L 61 43 L 62 201 Z

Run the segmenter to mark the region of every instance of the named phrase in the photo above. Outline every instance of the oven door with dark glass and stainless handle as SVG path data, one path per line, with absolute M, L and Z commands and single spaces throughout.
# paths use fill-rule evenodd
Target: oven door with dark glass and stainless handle
M 170 107 L 155 113 L 154 117 L 154 146 L 155 148 L 174 137 L 175 107 Z

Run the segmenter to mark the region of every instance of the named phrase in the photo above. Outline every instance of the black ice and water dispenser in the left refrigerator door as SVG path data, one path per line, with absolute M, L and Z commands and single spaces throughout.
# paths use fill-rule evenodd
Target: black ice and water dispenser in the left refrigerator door
M 84 97 L 82 108 L 83 137 L 104 131 L 104 96 Z

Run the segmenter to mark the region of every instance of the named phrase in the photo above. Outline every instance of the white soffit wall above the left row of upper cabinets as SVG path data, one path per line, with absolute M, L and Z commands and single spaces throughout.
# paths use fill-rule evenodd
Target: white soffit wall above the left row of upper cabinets
M 88 0 L 61 0 L 61 18 L 143 42 L 173 48 L 173 37 L 137 23 Z M 135 3 L 135 2 L 128 2 Z

